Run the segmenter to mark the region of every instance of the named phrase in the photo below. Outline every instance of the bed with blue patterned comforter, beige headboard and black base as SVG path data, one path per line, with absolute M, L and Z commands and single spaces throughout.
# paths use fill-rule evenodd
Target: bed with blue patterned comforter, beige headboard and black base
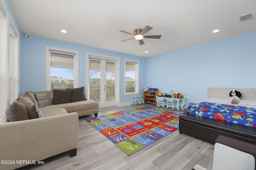
M 242 93 L 237 105 L 230 104 L 233 89 Z M 256 89 L 208 88 L 208 101 L 191 104 L 179 120 L 180 134 L 210 143 L 223 135 L 256 145 Z

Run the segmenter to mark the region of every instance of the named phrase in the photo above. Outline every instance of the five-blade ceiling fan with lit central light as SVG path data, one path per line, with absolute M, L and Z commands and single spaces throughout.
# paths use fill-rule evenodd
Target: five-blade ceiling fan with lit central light
M 133 31 L 134 34 L 128 33 L 126 31 L 120 31 L 122 33 L 127 33 L 127 34 L 130 34 L 130 35 L 134 35 L 133 38 L 125 39 L 125 40 L 123 40 L 121 42 L 130 40 L 130 39 L 136 39 L 136 40 L 138 40 L 140 42 L 140 45 L 143 45 L 143 44 L 145 44 L 144 41 L 142 40 L 143 38 L 160 39 L 162 35 L 148 35 L 148 36 L 144 35 L 148 31 L 150 31 L 151 29 L 153 29 L 153 28 L 147 25 L 144 29 L 140 29 L 140 28 L 139 29 L 134 29 L 134 31 Z

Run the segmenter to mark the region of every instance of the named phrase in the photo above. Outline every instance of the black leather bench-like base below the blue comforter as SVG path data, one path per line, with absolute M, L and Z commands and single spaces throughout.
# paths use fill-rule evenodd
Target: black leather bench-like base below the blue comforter
M 256 128 L 198 115 L 179 116 L 179 131 L 215 143 L 219 135 L 256 145 Z

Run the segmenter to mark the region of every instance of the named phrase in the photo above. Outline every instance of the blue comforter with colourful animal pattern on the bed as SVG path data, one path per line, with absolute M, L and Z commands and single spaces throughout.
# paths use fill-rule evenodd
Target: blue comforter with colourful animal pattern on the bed
M 187 113 L 256 127 L 256 109 L 251 107 L 201 102 L 182 111 L 182 114 Z

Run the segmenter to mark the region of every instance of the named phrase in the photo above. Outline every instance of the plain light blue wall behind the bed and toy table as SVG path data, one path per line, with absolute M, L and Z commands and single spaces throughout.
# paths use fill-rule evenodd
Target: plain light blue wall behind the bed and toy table
M 182 68 L 182 65 L 187 65 Z M 146 59 L 146 86 L 207 100 L 208 87 L 256 88 L 256 32 Z M 228 98 L 227 94 L 227 98 Z

